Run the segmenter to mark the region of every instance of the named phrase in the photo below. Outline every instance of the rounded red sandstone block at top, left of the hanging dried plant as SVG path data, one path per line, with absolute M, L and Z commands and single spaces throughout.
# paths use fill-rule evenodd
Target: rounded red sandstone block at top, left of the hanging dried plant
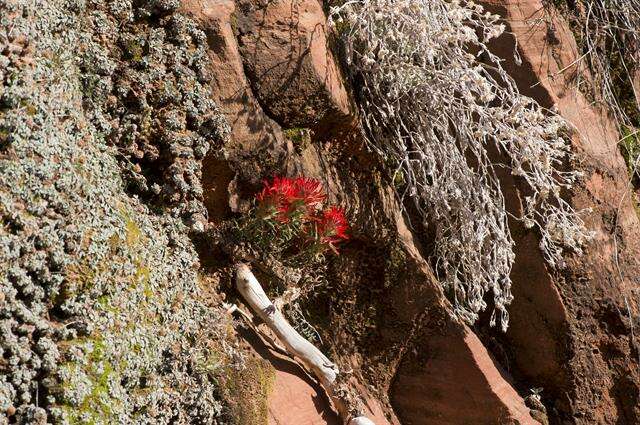
M 324 131 L 348 120 L 351 105 L 318 0 L 239 2 L 245 71 L 265 111 L 283 128 Z

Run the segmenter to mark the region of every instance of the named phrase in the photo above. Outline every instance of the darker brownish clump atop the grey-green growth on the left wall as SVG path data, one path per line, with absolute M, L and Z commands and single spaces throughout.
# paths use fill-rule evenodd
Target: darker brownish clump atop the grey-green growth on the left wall
M 128 189 L 201 230 L 201 160 L 228 130 L 205 84 L 205 33 L 172 13 L 178 3 L 95 2 L 81 51 L 84 106 L 117 147 Z

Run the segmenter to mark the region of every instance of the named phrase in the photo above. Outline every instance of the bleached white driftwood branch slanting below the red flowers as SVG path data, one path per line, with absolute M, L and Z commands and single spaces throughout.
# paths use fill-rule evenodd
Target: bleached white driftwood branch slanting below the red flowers
M 236 265 L 236 287 L 255 314 L 276 334 L 289 354 L 299 359 L 318 378 L 345 424 L 374 425 L 373 421 L 361 413 L 353 413 L 358 409 L 355 408 L 348 391 L 340 388 L 340 371 L 336 365 L 287 322 L 280 310 L 271 303 L 260 282 L 246 264 Z

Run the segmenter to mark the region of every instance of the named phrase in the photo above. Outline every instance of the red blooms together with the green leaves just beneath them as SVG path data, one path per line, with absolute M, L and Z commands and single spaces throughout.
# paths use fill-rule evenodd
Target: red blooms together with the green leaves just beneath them
M 327 250 L 337 253 L 337 245 L 348 239 L 349 225 L 342 208 L 322 209 L 326 197 L 322 184 L 308 177 L 265 180 L 256 195 L 252 227 L 270 244 L 296 241 L 314 256 Z

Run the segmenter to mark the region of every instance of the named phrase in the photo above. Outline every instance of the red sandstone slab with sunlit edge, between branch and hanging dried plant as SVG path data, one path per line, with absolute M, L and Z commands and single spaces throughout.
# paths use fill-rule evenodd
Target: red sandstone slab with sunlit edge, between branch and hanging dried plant
M 380 357 L 386 361 L 381 367 L 395 371 L 395 376 L 378 377 L 377 390 L 390 393 L 399 421 L 415 425 L 537 424 L 508 376 L 478 338 L 466 326 L 451 319 L 450 306 L 422 257 L 391 189 L 380 188 L 375 199 L 365 190 L 354 190 L 349 186 L 352 180 L 343 179 L 337 164 L 329 163 L 328 157 L 328 153 L 311 146 L 297 158 L 294 170 L 325 179 L 329 193 L 335 197 L 332 201 L 348 202 L 356 211 L 363 208 L 356 215 L 363 222 L 354 223 L 354 226 L 362 226 L 363 232 L 380 231 L 366 222 L 370 217 L 367 211 L 374 208 L 377 218 L 386 218 L 392 223 L 391 233 L 398 236 L 407 254 L 406 273 L 394 276 L 393 289 L 380 293 L 377 301 L 393 306 L 383 319 L 388 323 L 388 329 L 380 330 L 384 335 L 380 337 L 384 341 L 380 344 L 384 346 L 376 351 L 381 352 Z M 342 254 L 349 255 L 349 252 Z M 378 262 L 382 259 L 370 260 Z M 366 285 L 374 286 L 375 272 L 363 262 L 363 257 L 358 256 L 353 261 L 358 262 L 356 269 Z M 357 282 L 352 284 L 357 285 Z M 412 336 L 412 332 L 415 335 Z M 397 346 L 403 346 L 400 352 L 395 351 Z M 344 364 L 349 359 L 340 360 Z M 352 362 L 351 366 L 358 370 L 365 363 L 368 363 L 367 359 L 361 359 Z

